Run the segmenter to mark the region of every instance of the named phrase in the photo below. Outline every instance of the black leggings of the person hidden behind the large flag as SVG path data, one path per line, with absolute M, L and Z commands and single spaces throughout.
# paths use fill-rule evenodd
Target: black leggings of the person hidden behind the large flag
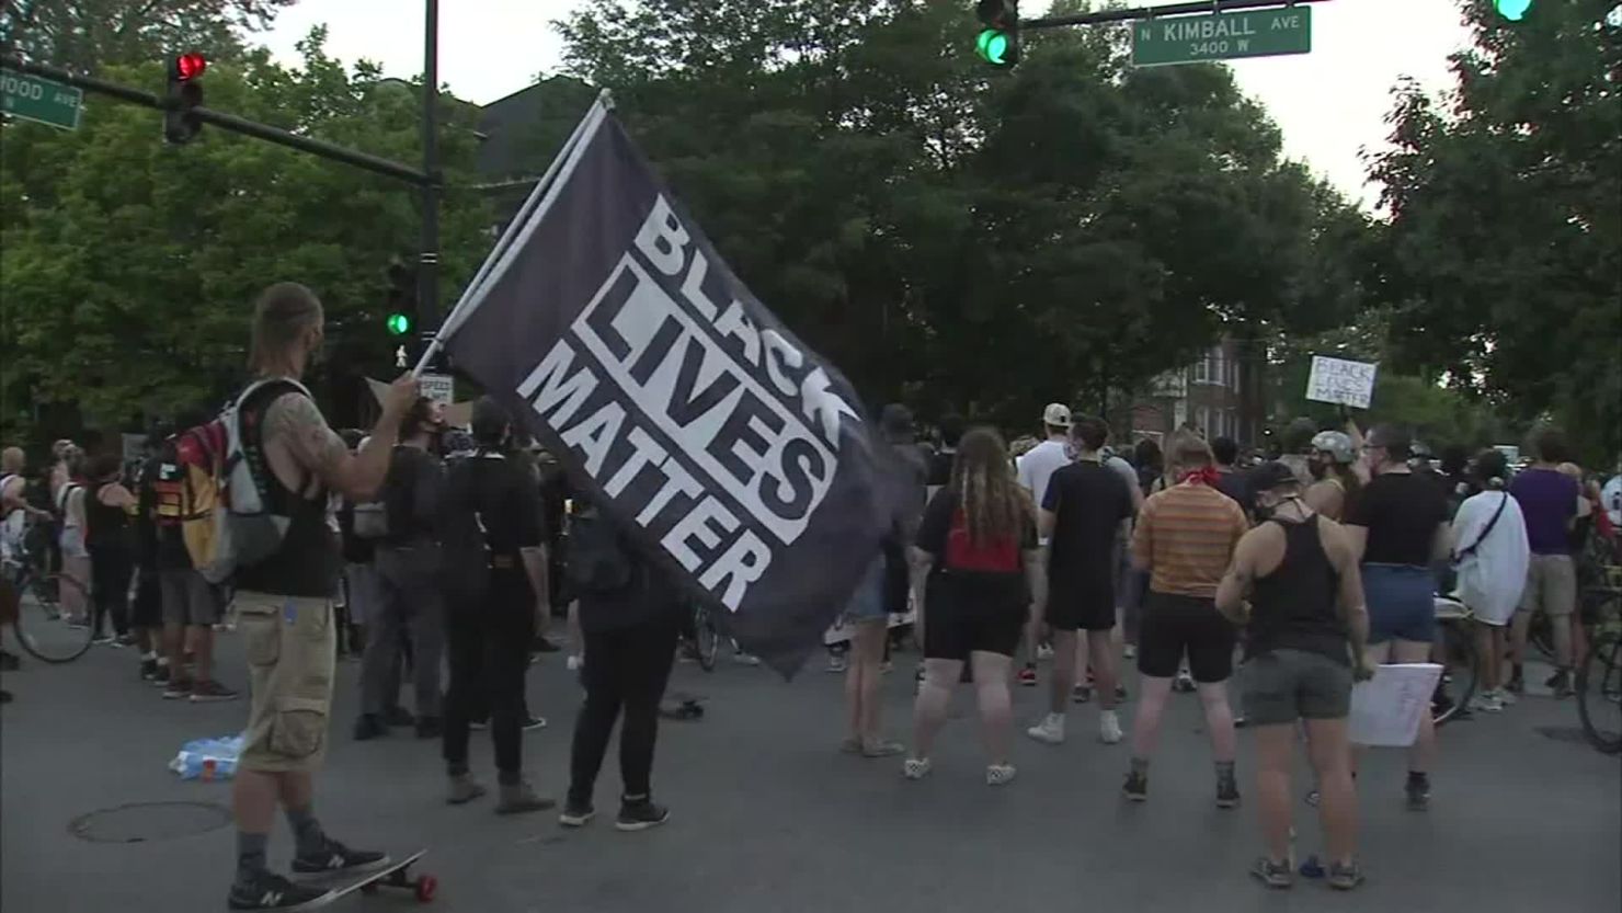
M 673 616 L 647 621 L 636 628 L 608 632 L 586 632 L 586 705 L 574 723 L 574 749 L 569 757 L 569 801 L 590 803 L 597 772 L 608 752 L 613 723 L 624 710 L 620 730 L 620 780 L 624 796 L 647 798 L 654 770 L 654 741 L 659 738 L 659 702 L 670 681 L 670 663 L 676 655 Z

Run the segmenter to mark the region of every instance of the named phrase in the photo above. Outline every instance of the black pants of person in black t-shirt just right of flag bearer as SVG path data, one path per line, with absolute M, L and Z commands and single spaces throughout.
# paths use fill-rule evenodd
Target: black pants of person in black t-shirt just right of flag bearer
M 490 739 L 503 783 L 517 783 L 524 767 L 524 671 L 535 597 L 522 569 L 491 571 L 483 605 L 449 605 L 446 655 L 451 686 L 444 694 L 444 762 L 467 772 L 470 722 L 488 709 Z

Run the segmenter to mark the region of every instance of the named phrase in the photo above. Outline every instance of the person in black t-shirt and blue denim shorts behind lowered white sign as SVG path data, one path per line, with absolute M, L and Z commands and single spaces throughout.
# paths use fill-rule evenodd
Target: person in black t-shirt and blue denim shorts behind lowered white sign
M 1377 426 L 1362 449 L 1374 477 L 1353 501 L 1346 532 L 1369 600 L 1369 662 L 1426 663 L 1435 639 L 1432 564 L 1452 553 L 1445 493 L 1410 469 L 1406 433 Z M 1408 804 L 1416 811 L 1431 801 L 1434 764 L 1435 725 L 1421 714 L 1408 756 Z

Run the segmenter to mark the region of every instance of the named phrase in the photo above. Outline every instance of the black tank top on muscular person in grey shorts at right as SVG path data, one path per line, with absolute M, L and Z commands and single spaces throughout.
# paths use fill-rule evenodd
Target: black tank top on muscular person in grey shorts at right
M 1255 581 L 1246 655 L 1309 650 L 1350 665 L 1346 626 L 1335 608 L 1340 574 L 1324 553 L 1317 514 L 1268 522 L 1285 530 L 1285 559 Z

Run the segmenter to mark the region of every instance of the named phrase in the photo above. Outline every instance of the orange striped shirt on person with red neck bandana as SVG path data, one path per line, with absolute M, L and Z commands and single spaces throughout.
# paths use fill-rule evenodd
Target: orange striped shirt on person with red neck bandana
M 1148 589 L 1215 598 L 1233 548 L 1249 529 L 1238 501 L 1210 485 L 1184 482 L 1144 501 L 1132 556 L 1148 566 Z

